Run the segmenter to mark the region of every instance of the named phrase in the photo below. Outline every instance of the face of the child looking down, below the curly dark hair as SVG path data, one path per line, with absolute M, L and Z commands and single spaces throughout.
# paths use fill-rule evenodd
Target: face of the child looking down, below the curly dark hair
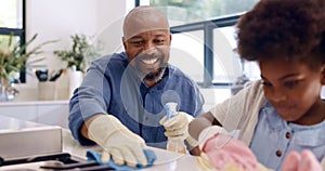
M 308 65 L 285 60 L 259 61 L 266 100 L 286 121 L 313 124 L 324 120 L 325 65 L 312 70 Z

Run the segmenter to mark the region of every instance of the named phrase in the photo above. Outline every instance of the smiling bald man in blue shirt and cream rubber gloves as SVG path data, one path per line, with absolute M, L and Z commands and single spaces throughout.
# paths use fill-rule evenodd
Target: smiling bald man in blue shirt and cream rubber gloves
M 70 100 L 69 128 L 80 144 L 103 147 L 106 160 L 145 166 L 145 143 L 166 148 L 166 136 L 191 140 L 187 123 L 203 113 L 204 100 L 197 86 L 168 64 L 171 35 L 159 10 L 130 11 L 122 42 L 126 52 L 104 56 L 88 69 Z M 168 102 L 178 103 L 180 113 L 166 120 Z

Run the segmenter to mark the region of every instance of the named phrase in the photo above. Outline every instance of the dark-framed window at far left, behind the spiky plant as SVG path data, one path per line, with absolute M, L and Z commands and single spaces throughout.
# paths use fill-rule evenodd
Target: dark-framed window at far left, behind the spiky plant
M 25 0 L 0 0 L 0 47 L 8 44 L 11 35 L 13 40 L 25 43 Z M 22 71 L 21 81 L 25 82 Z

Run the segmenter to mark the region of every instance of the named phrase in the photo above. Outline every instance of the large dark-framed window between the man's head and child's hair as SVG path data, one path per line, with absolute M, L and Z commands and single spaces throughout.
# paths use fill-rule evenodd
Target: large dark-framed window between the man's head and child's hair
M 239 60 L 234 29 L 257 1 L 138 0 L 135 5 L 154 5 L 167 14 L 173 34 L 170 63 L 210 87 L 230 86 L 243 74 L 259 77 L 257 65 Z

